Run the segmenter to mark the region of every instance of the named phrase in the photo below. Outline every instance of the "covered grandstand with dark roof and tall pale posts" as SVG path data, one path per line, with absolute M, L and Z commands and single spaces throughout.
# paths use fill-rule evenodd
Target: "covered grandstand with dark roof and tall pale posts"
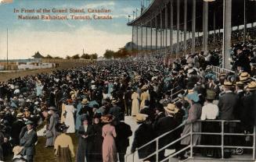
M 178 57 L 180 51 L 207 54 L 221 43 L 223 68 L 230 69 L 229 49 L 232 36 L 237 36 L 233 33 L 239 33 L 243 42 L 248 32 L 252 32 L 251 38 L 255 36 L 255 7 L 251 0 L 153 0 L 146 9 L 142 5 L 141 14 L 128 23 L 132 26 L 133 48 L 165 48 L 168 54 Z

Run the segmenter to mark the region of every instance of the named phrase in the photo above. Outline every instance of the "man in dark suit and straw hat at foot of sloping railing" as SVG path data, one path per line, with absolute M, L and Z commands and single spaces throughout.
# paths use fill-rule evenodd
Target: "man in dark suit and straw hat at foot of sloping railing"
M 149 143 L 151 140 L 155 138 L 153 134 L 153 128 L 147 122 L 148 115 L 146 114 L 137 114 L 136 115 L 136 122 L 139 124 L 138 129 L 135 130 L 135 136 L 132 143 L 132 153 L 135 153 L 135 150 L 138 149 L 140 146 L 143 146 L 146 143 Z M 139 159 L 145 158 L 151 153 L 154 152 L 156 148 L 155 143 L 151 143 L 150 145 L 142 147 L 138 150 Z M 150 161 L 154 161 L 154 157 L 150 157 Z

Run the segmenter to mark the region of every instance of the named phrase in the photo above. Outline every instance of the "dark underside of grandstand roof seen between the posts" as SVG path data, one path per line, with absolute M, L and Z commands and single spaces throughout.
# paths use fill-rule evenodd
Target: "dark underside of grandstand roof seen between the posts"
M 177 25 L 177 0 L 173 0 L 173 25 L 174 29 L 176 29 Z M 183 22 L 184 22 L 184 1 L 179 0 L 180 2 L 180 30 L 183 30 Z M 187 30 L 191 31 L 191 23 L 192 23 L 192 0 L 187 0 Z M 165 19 L 165 11 L 164 11 L 164 5 L 167 4 L 168 6 L 168 28 L 170 28 L 170 0 L 153 0 L 151 5 L 145 9 L 144 12 L 140 16 L 138 16 L 136 19 L 132 20 L 132 22 L 128 23 L 128 26 L 140 26 L 142 23 L 142 26 L 148 26 L 150 27 L 150 19 L 152 19 L 152 26 L 155 28 L 155 16 L 157 14 L 157 26 L 160 28 L 160 10 L 162 9 L 162 16 L 163 16 L 163 22 Z M 222 29 L 223 22 L 223 0 L 216 0 L 215 2 L 209 2 L 209 13 L 208 13 L 208 24 L 209 29 L 214 29 L 214 12 L 215 12 L 215 29 Z M 202 31 L 203 29 L 203 0 L 197 0 L 197 20 L 196 20 L 196 30 Z M 256 22 L 256 1 L 247 0 L 247 23 L 254 23 Z M 232 5 L 232 26 L 238 26 L 243 25 L 243 0 L 233 0 Z M 163 23 L 164 28 L 164 23 Z

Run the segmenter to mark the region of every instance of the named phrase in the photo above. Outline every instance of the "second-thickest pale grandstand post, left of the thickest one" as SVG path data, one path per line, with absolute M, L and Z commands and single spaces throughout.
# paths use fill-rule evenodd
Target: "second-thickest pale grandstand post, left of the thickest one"
M 204 40 L 203 40 L 203 51 L 204 54 L 208 53 L 208 2 L 204 2 L 204 9 L 203 9 L 203 26 L 204 26 Z

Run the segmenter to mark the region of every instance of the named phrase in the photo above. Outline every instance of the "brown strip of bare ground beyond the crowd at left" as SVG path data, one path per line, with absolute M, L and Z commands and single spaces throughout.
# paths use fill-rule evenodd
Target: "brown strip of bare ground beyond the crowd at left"
M 78 62 L 61 62 L 59 63 L 59 67 L 55 69 L 35 69 L 35 70 L 26 70 L 21 72 L 0 72 L 0 82 L 5 82 L 8 79 L 14 79 L 16 77 L 23 77 L 23 76 L 30 76 L 30 75 L 36 75 L 38 73 L 45 73 L 45 72 L 52 72 L 56 69 L 70 69 L 73 67 L 79 67 L 83 66 L 85 64 L 78 63 Z

